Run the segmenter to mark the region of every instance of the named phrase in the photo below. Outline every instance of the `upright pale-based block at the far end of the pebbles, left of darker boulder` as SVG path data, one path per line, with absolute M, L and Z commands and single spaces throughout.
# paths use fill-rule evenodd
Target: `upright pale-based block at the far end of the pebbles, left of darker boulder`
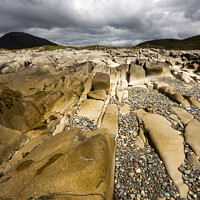
M 145 83 L 145 70 L 140 65 L 131 63 L 129 85 L 144 85 Z

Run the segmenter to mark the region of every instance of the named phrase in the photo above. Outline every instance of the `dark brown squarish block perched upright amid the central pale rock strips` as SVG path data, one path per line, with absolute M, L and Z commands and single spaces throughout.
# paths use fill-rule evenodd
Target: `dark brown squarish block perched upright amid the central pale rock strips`
M 106 73 L 97 72 L 93 78 L 94 90 L 110 91 L 110 76 Z

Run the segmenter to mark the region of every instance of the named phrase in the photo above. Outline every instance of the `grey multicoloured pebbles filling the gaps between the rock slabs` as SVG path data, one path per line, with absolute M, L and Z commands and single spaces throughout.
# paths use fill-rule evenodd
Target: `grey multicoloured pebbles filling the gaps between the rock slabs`
M 174 80 L 168 82 L 177 92 L 187 94 L 200 99 L 200 86 L 196 83 L 185 84 L 182 81 Z M 123 116 L 119 113 L 119 135 L 116 137 L 116 166 L 115 166 L 115 195 L 119 200 L 126 199 L 179 199 L 176 186 L 168 176 L 163 161 L 159 158 L 155 150 L 148 144 L 144 149 L 135 145 L 138 131 L 138 120 L 135 110 L 145 109 L 147 106 L 153 108 L 153 112 L 162 115 L 172 123 L 172 127 L 182 132 L 184 127 L 180 126 L 170 117 L 174 114 L 172 106 L 180 106 L 171 101 L 164 94 L 157 90 L 147 90 L 144 88 L 129 88 L 128 100 L 121 103 L 111 98 L 110 103 L 131 106 L 129 114 Z M 191 106 L 187 110 L 200 121 L 200 111 L 197 107 Z M 97 127 L 92 121 L 83 117 L 71 117 L 67 124 L 67 129 L 81 128 L 84 131 L 95 130 Z M 185 153 L 192 152 L 187 144 Z M 200 199 L 200 172 L 191 166 L 187 159 L 180 168 L 183 171 L 184 182 L 189 186 L 188 199 Z

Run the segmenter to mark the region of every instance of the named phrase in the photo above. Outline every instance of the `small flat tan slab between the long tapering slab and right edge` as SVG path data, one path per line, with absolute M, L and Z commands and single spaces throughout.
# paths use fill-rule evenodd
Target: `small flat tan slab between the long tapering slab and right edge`
M 175 114 L 178 116 L 178 118 L 181 120 L 181 122 L 184 125 L 187 125 L 191 120 L 194 119 L 193 115 L 188 113 L 185 109 L 179 108 L 179 107 L 172 107 L 172 110 L 175 112 Z

